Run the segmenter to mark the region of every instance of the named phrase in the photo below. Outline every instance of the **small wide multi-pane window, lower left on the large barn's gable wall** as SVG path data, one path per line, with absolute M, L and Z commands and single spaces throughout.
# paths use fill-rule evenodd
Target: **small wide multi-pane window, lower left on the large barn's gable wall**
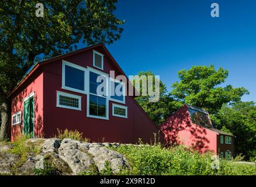
M 65 109 L 81 110 L 81 98 L 82 96 L 79 95 L 57 91 L 56 106 Z

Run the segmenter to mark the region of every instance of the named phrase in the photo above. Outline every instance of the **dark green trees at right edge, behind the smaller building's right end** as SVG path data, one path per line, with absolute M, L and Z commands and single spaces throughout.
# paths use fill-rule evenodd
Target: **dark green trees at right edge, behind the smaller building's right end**
M 256 160 L 256 106 L 254 102 L 237 102 L 223 105 L 212 116 L 213 123 L 219 129 L 236 136 L 235 150 L 243 153 L 247 160 Z

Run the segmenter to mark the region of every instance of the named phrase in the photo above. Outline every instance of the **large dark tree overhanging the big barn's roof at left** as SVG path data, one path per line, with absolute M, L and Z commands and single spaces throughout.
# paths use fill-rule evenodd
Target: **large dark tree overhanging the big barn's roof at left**
M 43 17 L 36 17 L 38 1 L 0 2 L 0 140 L 6 137 L 8 95 L 35 61 L 91 45 L 113 43 L 124 22 L 113 14 L 117 0 L 41 0 Z

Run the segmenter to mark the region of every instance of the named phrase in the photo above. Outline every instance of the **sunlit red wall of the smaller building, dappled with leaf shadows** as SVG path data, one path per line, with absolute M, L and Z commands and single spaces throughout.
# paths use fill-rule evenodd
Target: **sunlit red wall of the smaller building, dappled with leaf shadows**
M 193 124 L 186 105 L 162 123 L 160 129 L 165 134 L 167 144 L 184 144 L 202 153 L 208 150 L 217 153 L 217 134 Z

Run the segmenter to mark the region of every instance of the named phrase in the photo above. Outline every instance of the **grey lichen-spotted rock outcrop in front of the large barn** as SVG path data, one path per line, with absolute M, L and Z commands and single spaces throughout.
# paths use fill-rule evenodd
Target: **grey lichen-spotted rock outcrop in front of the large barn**
M 79 175 L 99 174 L 108 161 L 113 174 L 130 166 L 123 155 L 109 149 L 118 143 L 86 143 L 65 138 L 32 138 L 27 147 L 39 148 L 39 154 L 28 154 L 20 164 L 20 155 L 12 154 L 11 144 L 0 144 L 0 175 Z M 15 169 L 15 172 L 14 172 Z

